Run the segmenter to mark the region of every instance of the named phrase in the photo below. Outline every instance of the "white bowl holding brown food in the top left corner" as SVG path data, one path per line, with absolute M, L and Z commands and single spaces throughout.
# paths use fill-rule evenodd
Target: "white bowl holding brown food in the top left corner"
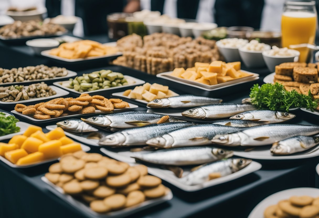
M 38 8 L 33 11 L 7 11 L 6 15 L 14 20 L 28 21 L 28 20 L 43 20 L 43 14 L 47 13 L 46 8 Z

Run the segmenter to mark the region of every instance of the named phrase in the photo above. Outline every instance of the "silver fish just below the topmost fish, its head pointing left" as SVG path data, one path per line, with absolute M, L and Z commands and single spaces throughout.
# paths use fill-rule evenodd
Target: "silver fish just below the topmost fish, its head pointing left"
M 240 104 L 215 104 L 196 107 L 182 112 L 182 115 L 197 119 L 220 119 L 227 118 L 242 113 L 244 111 L 256 110 L 254 105 L 240 105 Z

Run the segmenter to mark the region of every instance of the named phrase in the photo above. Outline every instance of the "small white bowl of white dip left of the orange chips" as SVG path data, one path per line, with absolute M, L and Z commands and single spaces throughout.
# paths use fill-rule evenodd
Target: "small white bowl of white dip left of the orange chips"
M 59 47 L 60 42 L 54 39 L 34 39 L 26 41 L 26 45 L 31 47 L 36 55 L 41 55 L 42 51 Z

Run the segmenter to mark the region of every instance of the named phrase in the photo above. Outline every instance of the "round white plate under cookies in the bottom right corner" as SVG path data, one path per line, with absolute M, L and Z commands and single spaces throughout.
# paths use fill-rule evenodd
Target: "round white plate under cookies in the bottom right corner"
M 257 206 L 251 211 L 249 214 L 248 218 L 263 218 L 263 212 L 265 209 L 271 205 L 276 205 L 278 204 L 279 201 L 281 200 L 287 200 L 291 196 L 304 196 L 308 195 L 311 197 L 318 197 L 319 196 L 319 189 L 317 188 L 292 188 L 292 189 L 287 189 L 284 191 L 280 191 L 277 193 L 274 193 L 264 200 L 262 200 Z

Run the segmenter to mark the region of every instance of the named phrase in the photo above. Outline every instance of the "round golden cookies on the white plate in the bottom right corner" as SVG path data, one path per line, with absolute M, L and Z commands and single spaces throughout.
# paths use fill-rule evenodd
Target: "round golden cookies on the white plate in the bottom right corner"
M 276 205 L 265 209 L 264 218 L 300 217 L 312 218 L 319 215 L 319 197 L 292 196 L 288 200 L 281 200 Z

